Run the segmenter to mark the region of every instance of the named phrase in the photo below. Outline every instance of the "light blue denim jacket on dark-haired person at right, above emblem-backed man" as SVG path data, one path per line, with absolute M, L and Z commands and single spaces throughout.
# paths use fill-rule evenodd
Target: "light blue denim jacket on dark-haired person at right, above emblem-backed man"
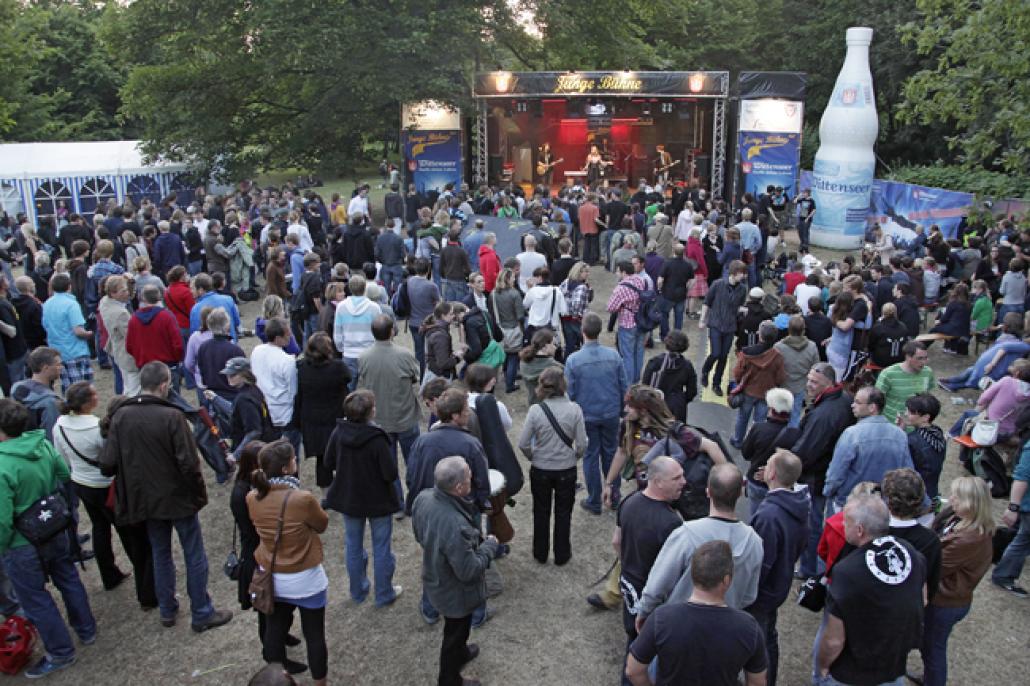
M 913 468 L 905 433 L 882 415 L 858 420 L 840 435 L 826 472 L 823 495 L 843 506 L 862 481 L 880 483 L 891 470 Z

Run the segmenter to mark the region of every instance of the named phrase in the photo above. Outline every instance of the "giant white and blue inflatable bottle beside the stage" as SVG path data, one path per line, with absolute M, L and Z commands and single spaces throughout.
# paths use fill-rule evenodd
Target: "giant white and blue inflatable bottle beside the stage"
M 844 67 L 819 123 L 812 182 L 812 242 L 837 249 L 859 248 L 865 238 L 879 130 L 869 73 L 872 29 L 848 29 L 847 42 Z

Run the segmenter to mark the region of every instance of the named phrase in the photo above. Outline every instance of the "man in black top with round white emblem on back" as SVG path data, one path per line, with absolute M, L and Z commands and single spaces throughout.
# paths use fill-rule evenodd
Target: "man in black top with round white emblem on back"
M 879 495 L 852 496 L 845 506 L 845 538 L 857 550 L 833 565 L 817 685 L 894 682 L 920 645 L 926 560 L 907 541 L 890 536 L 889 525 Z

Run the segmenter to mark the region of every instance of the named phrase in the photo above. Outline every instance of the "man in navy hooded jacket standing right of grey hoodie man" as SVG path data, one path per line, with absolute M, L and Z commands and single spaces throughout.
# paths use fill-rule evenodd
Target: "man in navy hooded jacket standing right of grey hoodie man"
M 765 634 L 768 652 L 768 686 L 776 686 L 780 662 L 777 613 L 787 599 L 794 578 L 794 562 L 809 540 L 809 510 L 812 501 L 804 487 L 796 487 L 801 460 L 788 450 L 777 450 L 755 478 L 769 487 L 768 494 L 751 515 L 751 527 L 762 539 L 762 571 L 758 577 L 758 597 L 746 608 Z

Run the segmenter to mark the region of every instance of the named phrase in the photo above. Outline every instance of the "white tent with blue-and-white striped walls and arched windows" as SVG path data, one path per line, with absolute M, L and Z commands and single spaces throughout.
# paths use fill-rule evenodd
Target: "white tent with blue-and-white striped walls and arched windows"
M 139 205 L 174 191 L 187 204 L 194 176 L 187 164 L 146 163 L 135 140 L 0 144 L 0 208 L 12 216 L 25 212 L 33 224 L 62 206 L 90 214 L 111 198 Z

